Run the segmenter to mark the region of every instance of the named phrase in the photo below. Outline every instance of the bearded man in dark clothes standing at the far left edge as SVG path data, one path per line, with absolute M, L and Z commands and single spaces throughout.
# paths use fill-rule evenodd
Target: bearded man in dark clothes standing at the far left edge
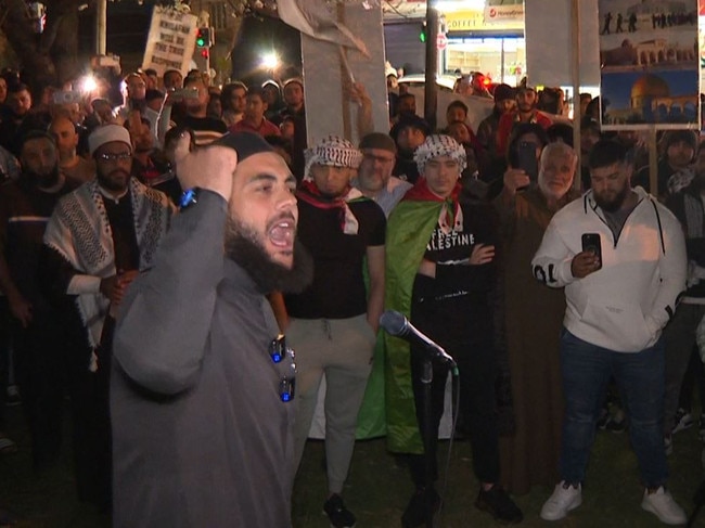
M 12 314 L 15 376 L 29 422 L 35 471 L 61 451 L 65 350 L 61 318 L 39 288 L 44 228 L 61 196 L 73 186 L 59 171 L 59 152 L 46 132 L 18 141 L 22 176 L 0 191 L 0 288 Z

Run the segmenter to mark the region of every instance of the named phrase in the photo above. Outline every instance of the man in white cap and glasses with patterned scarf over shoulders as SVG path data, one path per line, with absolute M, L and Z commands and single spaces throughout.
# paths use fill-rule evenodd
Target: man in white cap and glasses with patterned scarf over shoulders
M 76 481 L 81 500 L 108 507 L 108 353 L 100 357 L 111 305 L 119 305 L 140 270 L 152 266 L 174 206 L 165 194 L 131 177 L 130 134 L 103 125 L 88 138 L 94 180 L 64 196 L 44 232 L 42 280 L 65 305 L 75 339 L 69 390 L 76 428 Z M 104 350 L 104 349 L 103 349 Z

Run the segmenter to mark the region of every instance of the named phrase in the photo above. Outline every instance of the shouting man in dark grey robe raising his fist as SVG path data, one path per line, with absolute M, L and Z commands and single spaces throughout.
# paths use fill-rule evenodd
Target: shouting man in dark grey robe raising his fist
M 118 317 L 113 524 L 290 527 L 295 366 L 265 294 L 312 275 L 296 179 L 256 134 L 188 150 L 181 213 Z

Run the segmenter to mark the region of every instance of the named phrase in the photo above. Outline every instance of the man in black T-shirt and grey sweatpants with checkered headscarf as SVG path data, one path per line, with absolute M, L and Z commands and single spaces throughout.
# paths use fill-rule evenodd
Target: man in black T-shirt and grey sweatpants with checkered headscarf
M 287 337 L 296 350 L 299 405 L 295 453 L 299 462 L 325 374 L 325 452 L 331 526 L 351 527 L 341 498 L 347 478 L 358 411 L 364 395 L 384 297 L 382 209 L 351 186 L 362 154 L 330 136 L 306 152 L 297 192 L 299 237 L 315 262 L 313 283 L 285 297 Z M 363 273 L 370 279 L 366 288 Z

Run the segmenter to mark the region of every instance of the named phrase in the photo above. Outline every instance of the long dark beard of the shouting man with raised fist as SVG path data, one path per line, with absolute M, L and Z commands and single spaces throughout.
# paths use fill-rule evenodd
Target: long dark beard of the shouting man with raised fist
M 313 281 L 313 259 L 298 239 L 294 241 L 294 266 L 289 269 L 269 257 L 252 230 L 231 218 L 226 224 L 226 256 L 240 265 L 266 294 L 298 294 Z

